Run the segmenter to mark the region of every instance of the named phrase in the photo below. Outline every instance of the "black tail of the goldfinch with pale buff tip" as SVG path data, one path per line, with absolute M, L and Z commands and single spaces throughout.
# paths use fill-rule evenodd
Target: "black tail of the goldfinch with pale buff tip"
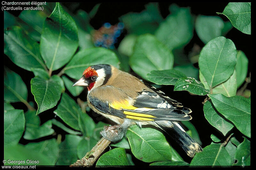
M 202 147 L 192 139 L 177 123 L 171 121 L 154 121 L 159 128 L 168 133 L 184 149 L 189 157 L 194 157 L 197 152 L 202 152 Z

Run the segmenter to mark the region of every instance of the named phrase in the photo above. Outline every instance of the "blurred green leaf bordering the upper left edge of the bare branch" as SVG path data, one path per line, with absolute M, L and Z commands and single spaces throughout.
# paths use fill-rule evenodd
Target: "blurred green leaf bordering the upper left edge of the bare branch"
M 77 156 L 79 159 L 84 158 L 87 152 L 91 151 L 91 149 L 97 144 L 98 140 L 92 137 L 83 138 L 79 144 L 77 145 Z

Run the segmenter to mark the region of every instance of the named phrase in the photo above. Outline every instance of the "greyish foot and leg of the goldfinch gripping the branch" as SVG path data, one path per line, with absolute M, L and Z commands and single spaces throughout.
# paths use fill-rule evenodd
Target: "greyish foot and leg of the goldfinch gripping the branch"
M 116 142 L 124 137 L 129 126 L 130 121 L 125 119 L 121 125 L 105 126 L 100 135 L 109 141 Z

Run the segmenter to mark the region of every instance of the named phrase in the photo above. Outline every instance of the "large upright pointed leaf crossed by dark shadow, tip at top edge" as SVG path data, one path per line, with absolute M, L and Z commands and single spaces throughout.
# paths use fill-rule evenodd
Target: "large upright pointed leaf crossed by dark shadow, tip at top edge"
M 57 70 L 68 63 L 77 47 L 76 23 L 60 3 L 56 3 L 50 18 L 44 22 L 40 40 L 42 58 L 50 71 Z

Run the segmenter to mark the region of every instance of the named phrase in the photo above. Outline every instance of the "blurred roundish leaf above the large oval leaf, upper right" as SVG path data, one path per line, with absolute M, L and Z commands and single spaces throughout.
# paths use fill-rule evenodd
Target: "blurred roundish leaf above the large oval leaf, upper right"
M 218 16 L 198 15 L 195 23 L 196 33 L 204 44 L 223 35 L 224 26 L 223 20 Z

